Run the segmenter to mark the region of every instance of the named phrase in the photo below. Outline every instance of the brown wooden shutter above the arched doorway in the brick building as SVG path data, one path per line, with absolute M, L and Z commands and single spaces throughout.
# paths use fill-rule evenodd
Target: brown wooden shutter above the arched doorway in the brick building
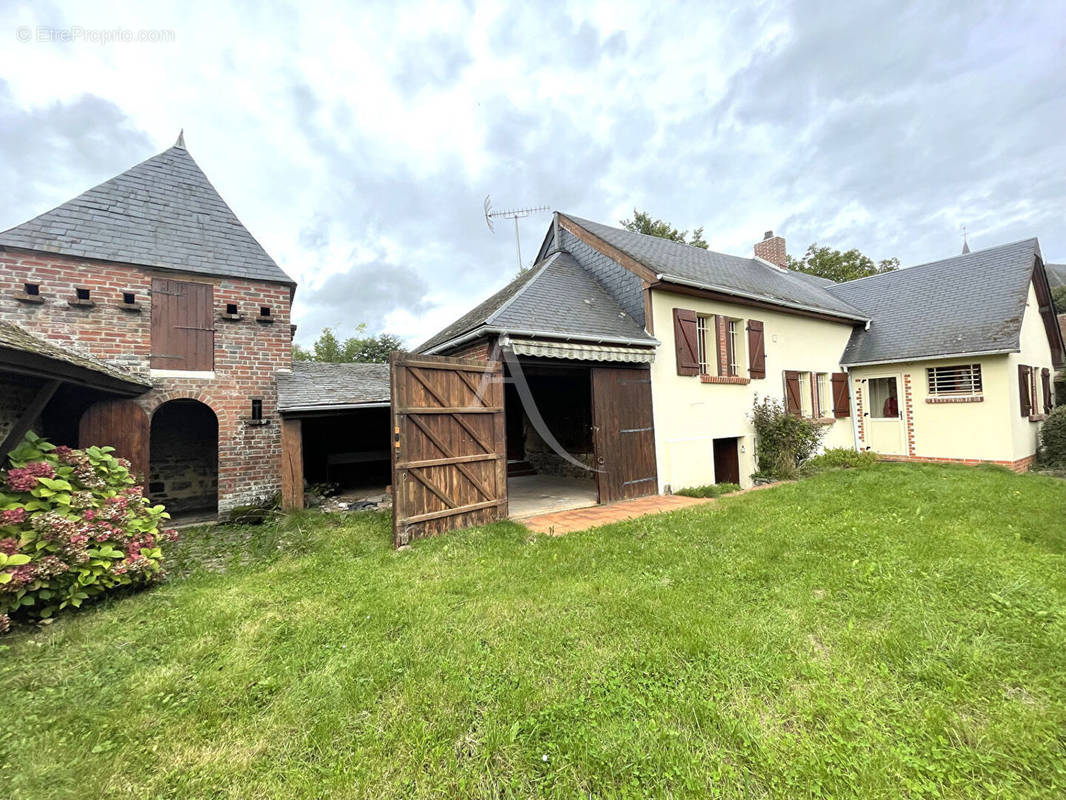
M 151 368 L 214 369 L 214 287 L 151 281 Z

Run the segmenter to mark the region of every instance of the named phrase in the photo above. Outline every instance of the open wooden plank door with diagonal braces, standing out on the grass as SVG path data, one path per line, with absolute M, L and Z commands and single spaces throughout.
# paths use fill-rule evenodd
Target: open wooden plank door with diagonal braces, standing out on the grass
M 391 380 L 394 545 L 505 518 L 502 363 L 393 353 Z

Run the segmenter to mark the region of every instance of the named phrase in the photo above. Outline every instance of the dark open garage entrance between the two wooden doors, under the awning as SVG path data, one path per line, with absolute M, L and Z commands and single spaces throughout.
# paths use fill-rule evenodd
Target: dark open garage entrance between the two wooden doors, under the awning
M 548 431 L 581 464 L 596 462 L 588 367 L 521 362 L 533 401 Z M 594 506 L 595 474 L 556 453 L 530 421 L 514 384 L 504 387 L 507 505 L 511 516 Z

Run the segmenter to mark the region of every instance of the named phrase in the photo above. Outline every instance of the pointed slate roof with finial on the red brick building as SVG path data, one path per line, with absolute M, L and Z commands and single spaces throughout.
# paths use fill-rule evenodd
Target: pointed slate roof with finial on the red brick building
M 0 234 L 0 245 L 294 284 L 179 144 Z

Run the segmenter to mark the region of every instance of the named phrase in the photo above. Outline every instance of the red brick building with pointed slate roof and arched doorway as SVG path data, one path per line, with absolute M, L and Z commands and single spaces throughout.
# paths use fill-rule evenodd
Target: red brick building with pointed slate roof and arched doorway
M 0 233 L 0 324 L 22 350 L 0 342 L 0 395 L 18 398 L 0 404 L 0 431 L 29 416 L 56 442 L 113 445 L 177 514 L 270 497 L 294 291 L 179 137 Z M 45 361 L 82 380 L 56 390 Z

